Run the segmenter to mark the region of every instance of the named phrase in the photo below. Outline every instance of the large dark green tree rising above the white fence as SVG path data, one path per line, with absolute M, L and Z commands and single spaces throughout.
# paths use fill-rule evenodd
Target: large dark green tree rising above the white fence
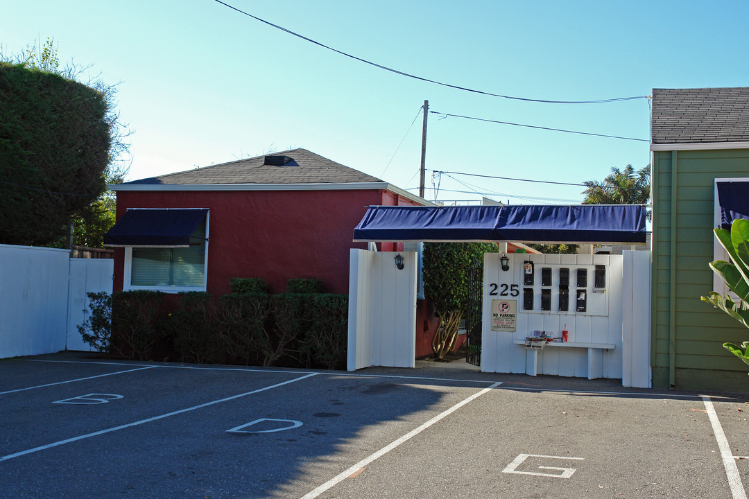
M 115 85 L 77 82 L 88 67 L 61 68 L 52 40 L 6 56 L 0 47 L 0 243 L 101 246 L 114 224 L 106 183 L 119 183 L 130 131 L 115 111 Z

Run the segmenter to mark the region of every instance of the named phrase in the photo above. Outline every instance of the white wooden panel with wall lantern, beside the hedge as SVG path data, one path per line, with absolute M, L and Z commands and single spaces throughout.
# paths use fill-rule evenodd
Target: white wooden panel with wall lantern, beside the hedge
M 351 250 L 348 288 L 348 370 L 414 367 L 416 265 L 414 251 Z

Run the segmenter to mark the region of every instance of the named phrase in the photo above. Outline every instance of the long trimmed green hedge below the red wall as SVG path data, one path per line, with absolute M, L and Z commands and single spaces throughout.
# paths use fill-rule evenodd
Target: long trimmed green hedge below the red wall
M 346 295 L 231 293 L 214 299 L 209 293 L 179 293 L 171 312 L 165 296 L 157 291 L 115 293 L 111 342 L 105 338 L 111 352 L 138 360 L 172 352 L 183 362 L 345 367 Z M 91 309 L 97 306 L 98 315 L 106 315 L 103 304 L 92 301 Z M 91 329 L 91 321 L 84 326 Z M 101 337 L 91 335 L 89 343 L 101 343 Z

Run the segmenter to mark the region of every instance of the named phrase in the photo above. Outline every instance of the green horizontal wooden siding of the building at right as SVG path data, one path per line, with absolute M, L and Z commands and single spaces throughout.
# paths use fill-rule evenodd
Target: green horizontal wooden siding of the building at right
M 674 159 L 676 186 L 672 186 Z M 749 340 L 749 331 L 701 301 L 700 296 L 712 290 L 708 264 L 713 260 L 714 180 L 749 177 L 749 150 L 657 151 L 653 153 L 653 165 L 653 385 L 748 390 L 746 379 L 721 372 L 727 375 L 727 371 L 748 370 L 722 344 Z M 674 204 L 676 221 L 672 227 Z M 693 370 L 706 370 L 703 379 L 707 381 L 698 384 L 699 377 Z M 737 382 L 727 387 L 727 379 L 740 380 L 743 385 Z

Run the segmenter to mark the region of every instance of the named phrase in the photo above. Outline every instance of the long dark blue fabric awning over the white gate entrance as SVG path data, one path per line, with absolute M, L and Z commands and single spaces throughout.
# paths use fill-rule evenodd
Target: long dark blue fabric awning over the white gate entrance
M 370 206 L 354 241 L 645 242 L 644 206 Z

